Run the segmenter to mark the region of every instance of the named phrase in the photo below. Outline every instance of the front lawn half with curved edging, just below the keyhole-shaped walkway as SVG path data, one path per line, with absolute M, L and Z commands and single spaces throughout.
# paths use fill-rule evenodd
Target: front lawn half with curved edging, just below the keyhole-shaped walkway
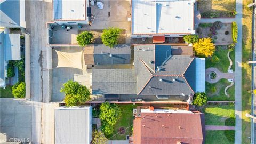
M 206 94 L 208 96 L 208 100 L 212 100 L 212 101 L 235 100 L 235 86 L 234 85 L 229 87 L 229 89 L 227 90 L 230 97 L 227 97 L 224 92 L 225 87 L 230 84 L 231 83 L 228 82 L 228 80 L 224 79 L 224 78 L 220 79 L 220 81 L 218 81 L 217 83 L 214 83 L 214 84 L 205 82 Z M 216 88 L 216 92 L 211 91 L 212 87 Z

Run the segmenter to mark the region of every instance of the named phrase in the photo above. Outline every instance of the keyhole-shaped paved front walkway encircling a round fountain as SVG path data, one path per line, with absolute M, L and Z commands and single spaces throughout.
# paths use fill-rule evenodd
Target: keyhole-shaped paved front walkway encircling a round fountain
M 209 75 L 210 75 L 211 71 L 214 71 L 216 73 L 216 78 L 215 79 L 210 79 Z M 206 80 L 206 82 L 216 83 L 221 78 L 233 79 L 233 82 L 234 82 L 235 81 L 235 74 L 234 73 L 222 73 L 217 68 L 207 68 L 205 70 L 205 80 Z

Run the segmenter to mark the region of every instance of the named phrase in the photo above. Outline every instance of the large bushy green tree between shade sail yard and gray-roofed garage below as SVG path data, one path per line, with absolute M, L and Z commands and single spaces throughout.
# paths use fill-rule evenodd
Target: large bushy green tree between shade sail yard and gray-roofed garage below
M 64 102 L 66 103 L 66 106 L 81 105 L 90 100 L 89 89 L 86 86 L 71 80 L 63 84 L 60 92 L 65 93 Z

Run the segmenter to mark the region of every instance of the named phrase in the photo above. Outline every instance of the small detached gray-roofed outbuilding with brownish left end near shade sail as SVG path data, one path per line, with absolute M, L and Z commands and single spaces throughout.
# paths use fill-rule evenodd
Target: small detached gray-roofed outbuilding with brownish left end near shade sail
M 118 44 L 113 48 L 91 44 L 84 48 L 85 65 L 124 65 L 131 63 L 130 45 Z

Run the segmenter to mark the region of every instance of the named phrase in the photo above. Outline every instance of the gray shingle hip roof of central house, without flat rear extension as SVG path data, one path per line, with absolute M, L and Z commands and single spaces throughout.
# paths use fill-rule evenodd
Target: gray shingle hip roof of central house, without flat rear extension
M 141 52 L 149 46 L 150 51 Z M 152 69 L 152 74 L 145 67 Z M 134 46 L 134 68 L 139 95 L 191 95 L 195 91 L 195 59 L 190 55 L 171 55 L 171 45 Z

